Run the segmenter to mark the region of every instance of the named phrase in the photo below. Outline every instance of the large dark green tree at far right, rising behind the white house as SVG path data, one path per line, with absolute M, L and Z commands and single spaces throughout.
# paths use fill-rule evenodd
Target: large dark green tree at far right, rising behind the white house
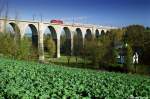
M 134 52 L 139 54 L 139 63 L 147 64 L 145 61 L 148 55 L 149 48 L 149 33 L 148 28 L 145 29 L 141 25 L 131 25 L 126 28 L 126 41 L 131 45 Z

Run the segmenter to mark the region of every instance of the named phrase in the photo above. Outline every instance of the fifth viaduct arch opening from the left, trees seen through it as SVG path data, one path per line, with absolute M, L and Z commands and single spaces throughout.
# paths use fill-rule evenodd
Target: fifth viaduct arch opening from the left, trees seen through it
M 83 33 L 80 28 L 76 28 L 74 36 L 73 36 L 73 49 L 74 55 L 80 54 L 80 51 L 83 48 Z

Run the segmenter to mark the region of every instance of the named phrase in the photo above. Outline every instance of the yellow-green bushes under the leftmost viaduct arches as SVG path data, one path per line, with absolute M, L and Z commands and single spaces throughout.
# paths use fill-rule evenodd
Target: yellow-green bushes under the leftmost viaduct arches
M 16 39 L 12 33 L 1 33 L 0 45 L 0 54 L 3 56 L 24 60 L 38 58 L 38 50 L 33 48 L 28 37 Z

